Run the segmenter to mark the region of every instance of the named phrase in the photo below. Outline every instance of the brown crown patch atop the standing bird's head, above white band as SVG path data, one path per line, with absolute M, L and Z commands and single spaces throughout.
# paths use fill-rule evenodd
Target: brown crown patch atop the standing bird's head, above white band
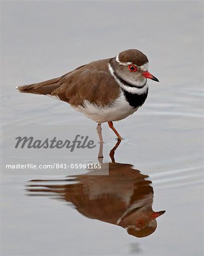
M 138 66 L 142 66 L 148 62 L 147 56 L 137 49 L 128 49 L 120 52 L 118 59 L 121 62 L 131 62 Z

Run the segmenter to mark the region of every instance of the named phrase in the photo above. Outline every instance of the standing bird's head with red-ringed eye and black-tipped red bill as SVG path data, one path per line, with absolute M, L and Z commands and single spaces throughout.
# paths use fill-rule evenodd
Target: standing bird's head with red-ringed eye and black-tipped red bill
M 148 72 L 148 59 L 145 54 L 137 49 L 128 49 L 120 52 L 111 59 L 109 70 L 120 82 L 142 88 L 147 79 L 159 82 L 159 80 Z

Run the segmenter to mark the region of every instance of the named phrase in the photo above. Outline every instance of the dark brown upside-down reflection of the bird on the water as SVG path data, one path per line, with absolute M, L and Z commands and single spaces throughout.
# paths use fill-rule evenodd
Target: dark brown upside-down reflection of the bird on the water
M 31 180 L 28 195 L 56 193 L 88 218 L 121 226 L 135 237 L 149 236 L 156 229 L 156 218 L 165 211 L 152 210 L 154 192 L 147 175 L 131 164 L 115 163 L 114 151 L 119 144 L 117 142 L 110 152 L 112 163 L 104 163 L 101 167 L 103 171 L 108 165 L 109 175 L 87 172 L 63 180 Z M 63 184 L 57 184 L 58 181 Z

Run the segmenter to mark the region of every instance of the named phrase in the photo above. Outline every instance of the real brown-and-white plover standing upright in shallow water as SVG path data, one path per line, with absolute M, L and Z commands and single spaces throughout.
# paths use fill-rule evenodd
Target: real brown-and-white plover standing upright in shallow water
M 159 82 L 148 72 L 147 56 L 138 49 L 127 49 L 115 57 L 82 65 L 61 77 L 16 89 L 69 103 L 97 123 L 96 130 L 103 142 L 101 123 L 104 122 L 122 139 L 113 122 L 128 117 L 144 104 L 147 79 Z

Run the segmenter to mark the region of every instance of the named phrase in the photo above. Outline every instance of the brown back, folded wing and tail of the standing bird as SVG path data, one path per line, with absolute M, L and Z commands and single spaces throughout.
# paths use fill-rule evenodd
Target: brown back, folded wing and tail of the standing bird
M 107 60 L 98 60 L 83 65 L 56 79 L 38 84 L 19 86 L 25 93 L 48 94 L 73 106 L 88 100 L 97 105 L 107 105 L 120 94 L 120 88 L 108 71 Z

